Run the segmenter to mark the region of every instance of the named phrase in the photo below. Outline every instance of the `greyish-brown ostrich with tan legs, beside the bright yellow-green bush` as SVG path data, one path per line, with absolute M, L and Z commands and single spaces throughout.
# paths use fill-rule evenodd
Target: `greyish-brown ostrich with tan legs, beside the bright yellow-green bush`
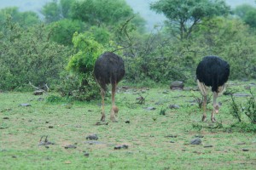
M 105 121 L 105 111 L 104 111 L 104 96 L 106 94 L 107 85 L 111 83 L 112 85 L 112 109 L 110 119 L 112 122 L 116 122 L 115 117 L 118 114 L 118 107 L 114 104 L 114 94 L 116 91 L 117 84 L 125 75 L 125 64 L 124 60 L 120 58 L 117 54 L 111 52 L 105 52 L 99 59 L 96 60 L 94 66 L 94 75 L 96 77 L 96 82 L 101 87 L 102 94 L 102 118 L 101 121 Z

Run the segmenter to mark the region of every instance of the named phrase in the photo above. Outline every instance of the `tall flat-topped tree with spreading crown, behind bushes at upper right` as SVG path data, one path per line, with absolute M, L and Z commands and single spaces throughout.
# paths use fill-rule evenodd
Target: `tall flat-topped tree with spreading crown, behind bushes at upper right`
M 202 19 L 230 11 L 223 0 L 159 0 L 151 3 L 150 8 L 166 15 L 172 34 L 180 40 L 189 38 Z

